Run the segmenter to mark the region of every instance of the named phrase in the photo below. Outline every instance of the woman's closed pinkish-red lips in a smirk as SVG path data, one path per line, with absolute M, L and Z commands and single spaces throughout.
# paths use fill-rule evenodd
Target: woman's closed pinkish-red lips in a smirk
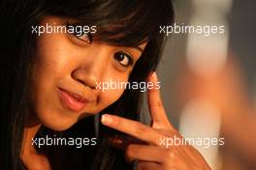
M 58 91 L 62 104 L 64 104 L 64 106 L 68 107 L 72 111 L 80 112 L 88 102 L 87 99 L 82 98 L 78 94 L 74 94 L 60 88 L 58 88 Z

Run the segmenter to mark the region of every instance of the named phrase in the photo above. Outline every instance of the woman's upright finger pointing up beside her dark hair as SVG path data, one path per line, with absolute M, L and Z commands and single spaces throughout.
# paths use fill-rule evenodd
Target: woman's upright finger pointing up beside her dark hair
M 147 104 L 152 118 L 152 128 L 173 128 L 166 115 L 160 95 L 160 86 L 155 72 L 148 77 L 148 83 L 153 84 L 153 88 L 148 88 Z

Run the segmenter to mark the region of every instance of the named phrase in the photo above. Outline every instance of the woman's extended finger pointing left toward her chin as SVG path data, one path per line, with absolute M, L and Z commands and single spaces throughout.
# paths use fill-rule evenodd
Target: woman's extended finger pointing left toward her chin
M 165 137 L 156 129 L 147 127 L 140 122 L 121 118 L 115 115 L 104 114 L 102 115 L 101 122 L 103 125 L 109 128 L 114 128 L 118 131 L 124 132 L 135 138 L 143 140 L 148 144 L 153 144 L 156 146 L 159 146 L 160 139 Z

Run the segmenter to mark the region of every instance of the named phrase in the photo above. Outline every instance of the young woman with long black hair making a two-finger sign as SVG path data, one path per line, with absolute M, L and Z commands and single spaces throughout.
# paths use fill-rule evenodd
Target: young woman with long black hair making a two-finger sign
M 191 146 L 167 146 L 181 136 L 158 88 L 147 92 L 150 127 L 138 122 L 140 89 L 98 88 L 157 84 L 159 26 L 174 19 L 169 0 L 6 0 L 0 13 L 0 169 L 209 169 Z M 46 145 L 57 137 L 86 141 Z

